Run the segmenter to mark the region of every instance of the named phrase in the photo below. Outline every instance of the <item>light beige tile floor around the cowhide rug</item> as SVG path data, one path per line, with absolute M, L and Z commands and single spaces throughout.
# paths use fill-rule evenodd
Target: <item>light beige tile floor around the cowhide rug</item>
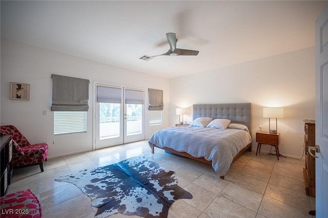
M 315 199 L 305 195 L 304 160 L 246 151 L 233 162 L 224 180 L 211 166 L 170 155 L 161 149 L 155 154 L 147 141 L 50 159 L 44 172 L 38 166 L 15 169 L 8 193 L 30 189 L 40 200 L 43 217 L 94 217 L 96 207 L 90 198 L 71 183 L 56 182 L 85 168 L 116 163 L 145 155 L 176 173 L 178 185 L 193 194 L 193 199 L 178 200 L 169 217 L 312 217 Z M 111 217 L 138 217 L 114 214 Z

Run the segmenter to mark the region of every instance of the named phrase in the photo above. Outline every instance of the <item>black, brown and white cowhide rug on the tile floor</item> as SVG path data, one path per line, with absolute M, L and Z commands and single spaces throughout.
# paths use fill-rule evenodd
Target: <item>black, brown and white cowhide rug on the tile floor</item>
M 192 199 L 191 193 L 177 185 L 173 171 L 141 156 L 55 181 L 73 183 L 87 194 L 92 206 L 98 207 L 97 218 L 114 213 L 167 217 L 175 200 Z

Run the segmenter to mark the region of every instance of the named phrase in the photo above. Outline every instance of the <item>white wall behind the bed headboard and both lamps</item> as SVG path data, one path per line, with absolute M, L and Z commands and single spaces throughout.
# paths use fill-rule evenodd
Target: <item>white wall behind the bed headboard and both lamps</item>
M 253 150 L 258 125 L 269 129 L 262 108 L 284 107 L 278 119 L 279 151 L 291 157 L 303 152 L 303 119 L 315 119 L 315 49 L 309 48 L 170 79 L 170 124 L 178 122 L 176 107 L 200 103 L 252 103 Z M 192 114 L 185 119 L 191 121 Z M 270 150 L 263 145 L 261 153 Z M 263 151 L 262 151 L 263 150 Z

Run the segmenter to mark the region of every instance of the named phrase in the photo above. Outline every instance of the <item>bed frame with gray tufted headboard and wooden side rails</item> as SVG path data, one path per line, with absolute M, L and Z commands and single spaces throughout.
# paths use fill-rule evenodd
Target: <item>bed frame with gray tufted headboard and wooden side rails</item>
M 233 104 L 194 104 L 193 105 L 193 120 L 198 117 L 211 117 L 213 119 L 230 119 L 232 123 L 244 124 L 251 130 L 251 103 L 233 103 Z M 152 153 L 154 154 L 154 148 L 160 148 L 167 150 L 175 155 L 190 158 L 202 163 L 211 164 L 212 161 L 208 161 L 205 158 L 195 158 L 189 155 L 187 152 L 179 152 L 168 147 L 158 147 L 154 145 L 152 147 Z M 243 152 L 252 151 L 252 143 L 248 144 L 233 158 L 236 160 Z M 220 176 L 224 179 L 224 176 Z

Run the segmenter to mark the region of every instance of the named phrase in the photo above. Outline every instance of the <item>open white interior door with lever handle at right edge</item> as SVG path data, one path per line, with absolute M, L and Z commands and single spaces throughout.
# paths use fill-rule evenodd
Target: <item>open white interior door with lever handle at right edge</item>
M 316 20 L 316 217 L 328 216 L 328 7 Z

